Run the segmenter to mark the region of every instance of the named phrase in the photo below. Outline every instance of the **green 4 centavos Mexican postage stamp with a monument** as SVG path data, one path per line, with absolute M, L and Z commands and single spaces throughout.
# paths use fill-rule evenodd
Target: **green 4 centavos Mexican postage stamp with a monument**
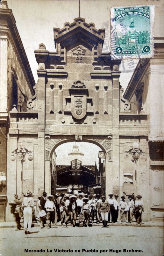
M 111 8 L 112 59 L 153 57 L 154 5 Z

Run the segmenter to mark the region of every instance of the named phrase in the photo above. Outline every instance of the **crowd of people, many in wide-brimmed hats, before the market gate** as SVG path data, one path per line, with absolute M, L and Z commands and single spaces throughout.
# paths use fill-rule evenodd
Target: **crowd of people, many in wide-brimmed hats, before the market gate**
M 37 220 L 40 222 L 40 228 L 51 228 L 51 223 L 54 223 L 55 227 L 57 222 L 61 221 L 61 227 L 65 223 L 68 227 L 68 221 L 70 221 L 71 227 L 92 226 L 92 223 L 96 220 L 96 223 L 102 223 L 103 227 L 108 227 L 110 220 L 112 223 L 118 222 L 118 213 L 120 211 L 120 221 L 131 223 L 133 216 L 135 216 L 136 224 L 142 224 L 142 211 L 143 200 L 141 195 L 136 196 L 134 202 L 134 196 L 128 196 L 129 201 L 125 200 L 125 196 L 121 196 L 121 200 L 118 201 L 118 195 L 110 193 L 109 198 L 105 199 L 104 195 L 94 194 L 91 195 L 73 192 L 72 194 L 61 195 L 47 195 L 43 192 L 42 196 L 38 196 Z M 24 219 L 25 234 L 30 234 L 32 226 L 32 216 L 35 213 L 34 200 L 32 191 L 28 190 L 24 195 L 24 199 L 18 199 L 18 195 L 14 195 L 15 200 L 11 204 L 11 213 L 14 214 L 17 222 L 17 230 L 20 230 L 21 218 Z M 35 218 L 36 219 L 36 218 Z

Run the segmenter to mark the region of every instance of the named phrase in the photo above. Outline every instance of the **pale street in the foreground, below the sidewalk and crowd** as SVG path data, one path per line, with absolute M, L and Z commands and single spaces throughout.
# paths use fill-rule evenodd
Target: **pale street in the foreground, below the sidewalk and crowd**
M 34 226 L 30 235 L 25 235 L 23 229 L 16 231 L 15 227 L 0 230 L 1 256 L 163 255 L 163 227 L 158 223 L 156 225 L 146 223 L 143 226 L 118 223 L 110 225 L 109 228 L 101 228 L 100 224 L 90 228 L 71 228 L 69 224 L 68 228 L 61 228 L 58 223 L 57 228 L 52 226 L 50 229 Z M 38 253 L 30 251 L 41 249 L 42 251 Z M 127 252 L 132 249 L 141 252 Z

